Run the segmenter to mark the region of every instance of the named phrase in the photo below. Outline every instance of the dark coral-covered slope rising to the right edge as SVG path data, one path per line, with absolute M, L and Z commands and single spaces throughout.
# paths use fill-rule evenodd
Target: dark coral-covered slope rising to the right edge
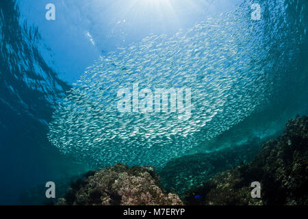
M 251 198 L 251 183 L 261 198 Z M 196 199 L 196 195 L 198 198 Z M 185 197 L 190 205 L 308 205 L 308 117 L 290 120 L 248 165 L 216 175 Z

